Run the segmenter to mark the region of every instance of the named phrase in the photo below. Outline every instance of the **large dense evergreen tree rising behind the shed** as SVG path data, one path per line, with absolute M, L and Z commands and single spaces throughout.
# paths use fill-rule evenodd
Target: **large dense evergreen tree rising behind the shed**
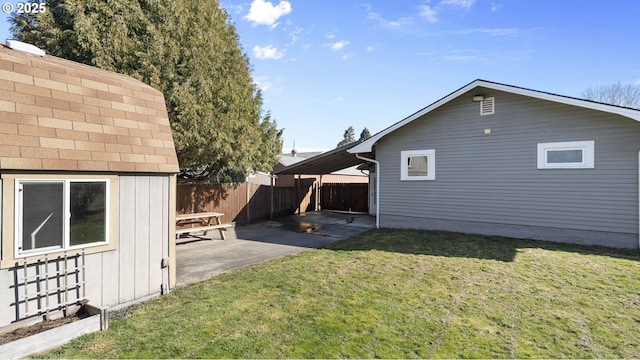
M 48 0 L 13 14 L 18 40 L 162 91 L 182 177 L 270 171 L 282 131 L 262 111 L 235 28 L 217 1 Z

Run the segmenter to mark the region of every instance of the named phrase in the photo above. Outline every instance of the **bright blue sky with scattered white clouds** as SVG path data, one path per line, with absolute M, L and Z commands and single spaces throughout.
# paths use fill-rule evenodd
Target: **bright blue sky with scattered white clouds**
M 376 133 L 478 78 L 575 97 L 590 86 L 640 84 L 635 0 L 220 5 L 264 109 L 285 129 L 285 151 L 294 141 L 301 151 L 333 148 L 349 126 L 356 137 L 364 127 Z

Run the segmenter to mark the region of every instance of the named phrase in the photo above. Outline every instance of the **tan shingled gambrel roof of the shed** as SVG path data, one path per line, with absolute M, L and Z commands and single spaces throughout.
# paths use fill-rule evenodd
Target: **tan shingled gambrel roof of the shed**
M 164 96 L 131 77 L 0 46 L 0 169 L 178 172 Z

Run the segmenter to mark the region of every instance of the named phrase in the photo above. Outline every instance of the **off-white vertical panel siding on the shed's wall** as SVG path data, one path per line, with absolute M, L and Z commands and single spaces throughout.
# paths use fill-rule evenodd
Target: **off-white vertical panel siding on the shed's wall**
M 162 285 L 168 284 L 169 269 L 162 268 L 161 261 L 169 257 L 169 242 L 173 240 L 169 236 L 170 186 L 169 175 L 118 177 L 118 200 L 114 205 L 119 228 L 117 248 L 85 256 L 85 290 L 90 304 L 98 307 L 125 304 L 159 294 Z M 16 303 L 22 300 L 23 286 L 16 292 L 15 284 L 21 278 L 21 268 L 0 271 L 0 286 L 4 289 L 0 291 L 3 309 L 0 327 L 25 320 L 24 304 L 16 309 Z M 56 298 L 52 295 L 50 300 L 54 302 Z M 29 306 L 33 312 L 35 302 Z

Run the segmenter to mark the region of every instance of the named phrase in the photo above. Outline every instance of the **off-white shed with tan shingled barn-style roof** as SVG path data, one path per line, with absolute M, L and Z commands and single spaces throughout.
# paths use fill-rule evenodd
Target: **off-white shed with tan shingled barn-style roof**
M 0 327 L 78 302 L 110 308 L 166 292 L 175 284 L 179 169 L 162 93 L 7 44 Z

